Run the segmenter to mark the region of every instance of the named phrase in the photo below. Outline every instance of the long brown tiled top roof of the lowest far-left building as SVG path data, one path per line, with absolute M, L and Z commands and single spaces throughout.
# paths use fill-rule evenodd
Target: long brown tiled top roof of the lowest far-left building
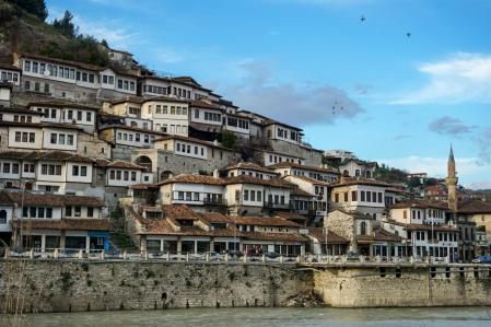
M 35 194 L 28 191 L 25 191 L 24 194 L 21 191 L 8 192 L 8 197 L 13 202 L 24 203 L 24 206 L 43 203 L 52 207 L 63 207 L 63 206 L 105 207 L 104 199 L 97 197 Z

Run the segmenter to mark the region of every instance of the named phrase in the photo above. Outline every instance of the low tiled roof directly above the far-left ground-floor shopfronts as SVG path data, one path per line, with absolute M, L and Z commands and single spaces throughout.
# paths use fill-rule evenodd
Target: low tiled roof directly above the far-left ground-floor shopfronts
M 113 231 L 109 221 L 105 219 L 62 219 L 62 220 L 13 220 L 14 229 L 20 229 L 21 225 L 26 229 L 36 230 L 69 230 L 69 231 Z

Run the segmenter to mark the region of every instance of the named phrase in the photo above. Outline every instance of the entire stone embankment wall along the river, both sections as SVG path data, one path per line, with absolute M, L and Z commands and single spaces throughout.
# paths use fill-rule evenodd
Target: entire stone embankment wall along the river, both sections
M 0 308 L 26 313 L 194 307 L 491 305 L 491 267 L 0 260 Z M 17 312 L 20 308 L 17 307 Z

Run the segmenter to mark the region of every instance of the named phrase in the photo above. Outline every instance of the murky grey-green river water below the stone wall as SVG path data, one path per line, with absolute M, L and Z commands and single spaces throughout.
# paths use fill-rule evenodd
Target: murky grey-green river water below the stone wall
M 0 322 L 1 323 L 1 322 Z M 491 307 L 190 308 L 27 315 L 27 326 L 491 326 Z

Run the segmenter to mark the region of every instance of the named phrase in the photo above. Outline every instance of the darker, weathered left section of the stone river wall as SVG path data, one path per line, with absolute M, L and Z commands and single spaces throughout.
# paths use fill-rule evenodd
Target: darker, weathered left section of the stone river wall
M 19 290 L 21 266 L 0 261 L 1 311 L 5 282 Z M 281 306 L 312 290 L 309 272 L 262 264 L 31 260 L 24 275 L 26 312 Z

